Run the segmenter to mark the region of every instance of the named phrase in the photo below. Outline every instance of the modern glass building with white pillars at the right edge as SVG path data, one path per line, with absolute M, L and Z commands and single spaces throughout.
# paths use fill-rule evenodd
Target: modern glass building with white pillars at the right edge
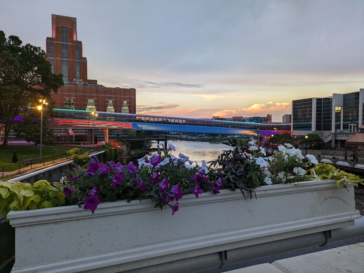
M 341 148 L 363 125 L 364 89 L 325 98 L 292 101 L 292 135 L 317 133 L 325 142 Z

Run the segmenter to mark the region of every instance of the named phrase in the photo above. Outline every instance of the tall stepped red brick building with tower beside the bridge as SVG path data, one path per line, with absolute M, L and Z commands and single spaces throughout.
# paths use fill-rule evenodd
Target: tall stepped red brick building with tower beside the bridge
M 46 51 L 52 72 L 63 74 L 64 86 L 52 95 L 55 108 L 135 113 L 134 88 L 104 87 L 87 78 L 76 18 L 52 14 L 52 37 L 47 37 Z

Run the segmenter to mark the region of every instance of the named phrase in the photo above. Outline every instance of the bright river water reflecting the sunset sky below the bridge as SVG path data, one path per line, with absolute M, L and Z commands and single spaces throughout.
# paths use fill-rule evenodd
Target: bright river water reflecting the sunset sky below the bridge
M 169 140 L 168 144 L 173 144 L 176 147 L 176 151 L 172 151 L 174 156 L 178 157 L 179 153 L 183 153 L 200 166 L 202 160 L 206 160 L 206 162 L 216 160 L 223 150 L 230 148 L 222 143 L 186 140 Z M 157 148 L 157 141 L 152 141 L 151 148 Z

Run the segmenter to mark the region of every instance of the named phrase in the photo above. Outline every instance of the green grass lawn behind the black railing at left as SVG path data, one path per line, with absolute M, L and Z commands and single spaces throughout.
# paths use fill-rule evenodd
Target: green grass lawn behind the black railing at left
M 43 146 L 42 147 L 42 157 L 52 156 L 54 154 L 66 153 L 68 150 L 77 147 L 83 151 L 83 147 L 81 146 Z M 40 156 L 40 147 L 37 146 L 37 151 L 34 152 L 34 145 L 8 145 L 3 146 L 0 145 L 0 166 L 12 164 L 11 160 L 13 158 L 14 150 L 17 151 L 19 162 L 22 162 L 23 159 L 28 158 L 39 158 Z M 64 155 L 65 156 L 65 155 Z M 59 158 L 59 157 L 57 157 Z M 50 159 L 50 158 L 49 158 Z M 51 160 L 51 159 L 50 159 Z M 48 161 L 47 158 L 45 161 Z

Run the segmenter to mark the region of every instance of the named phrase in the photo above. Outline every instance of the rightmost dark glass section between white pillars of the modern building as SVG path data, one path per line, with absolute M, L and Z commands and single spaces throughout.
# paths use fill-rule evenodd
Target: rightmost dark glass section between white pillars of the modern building
M 343 129 L 349 130 L 349 125 L 352 124 L 359 127 L 359 92 L 344 94 Z

